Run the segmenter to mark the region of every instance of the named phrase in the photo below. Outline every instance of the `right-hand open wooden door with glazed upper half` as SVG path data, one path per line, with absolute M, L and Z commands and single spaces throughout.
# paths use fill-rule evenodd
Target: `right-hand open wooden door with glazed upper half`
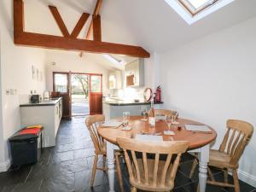
M 102 75 L 90 75 L 90 114 L 102 114 Z

